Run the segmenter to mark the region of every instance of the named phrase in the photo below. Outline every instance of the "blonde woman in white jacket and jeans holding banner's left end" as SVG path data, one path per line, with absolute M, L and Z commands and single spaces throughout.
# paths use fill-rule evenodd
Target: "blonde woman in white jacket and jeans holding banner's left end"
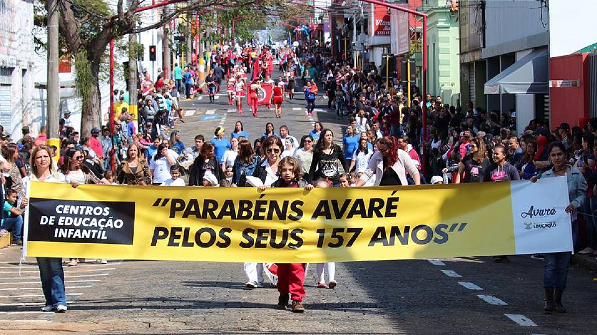
M 29 203 L 29 190 L 31 181 L 44 182 L 65 182 L 64 175 L 54 170 L 50 148 L 46 145 L 39 145 L 33 149 L 31 154 L 31 174 L 21 180 L 21 194 L 23 203 Z M 76 187 L 76 184 L 73 184 Z M 62 270 L 62 258 L 38 257 L 39 277 L 41 287 L 44 291 L 45 306 L 43 312 L 56 311 L 66 312 L 66 290 L 64 289 L 64 271 Z

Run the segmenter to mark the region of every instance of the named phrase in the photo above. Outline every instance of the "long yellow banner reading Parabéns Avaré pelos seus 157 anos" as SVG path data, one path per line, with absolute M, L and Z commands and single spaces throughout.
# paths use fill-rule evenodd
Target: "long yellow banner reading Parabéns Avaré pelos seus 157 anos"
M 28 256 L 316 263 L 571 250 L 565 178 L 263 192 L 33 182 L 29 203 Z

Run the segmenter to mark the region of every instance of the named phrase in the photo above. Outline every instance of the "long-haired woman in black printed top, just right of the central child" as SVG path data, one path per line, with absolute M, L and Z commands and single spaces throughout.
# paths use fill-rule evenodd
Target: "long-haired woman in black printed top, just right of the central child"
M 348 170 L 342 148 L 334 144 L 334 133 L 326 128 L 321 131 L 321 137 L 315 150 L 313 150 L 313 160 L 306 179 L 312 182 L 319 178 L 328 178 L 332 184 L 337 185 L 340 177 L 340 166 L 344 169 L 344 172 Z

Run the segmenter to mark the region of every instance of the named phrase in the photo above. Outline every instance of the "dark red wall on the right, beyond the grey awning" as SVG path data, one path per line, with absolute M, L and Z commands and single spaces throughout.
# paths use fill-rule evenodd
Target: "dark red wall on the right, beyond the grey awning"
M 549 58 L 550 122 L 555 128 L 562 122 L 580 125 L 589 117 L 588 54 L 571 54 Z M 579 87 L 553 87 L 552 80 L 580 80 Z

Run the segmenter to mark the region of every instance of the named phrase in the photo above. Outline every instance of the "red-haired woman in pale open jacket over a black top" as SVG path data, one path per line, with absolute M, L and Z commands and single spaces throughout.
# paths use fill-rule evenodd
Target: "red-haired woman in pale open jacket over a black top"
M 374 186 L 408 185 L 407 174 L 410 173 L 415 185 L 421 184 L 415 161 L 408 153 L 398 148 L 395 137 L 382 137 L 377 141 L 379 151 L 369 160 L 367 169 L 356 182 L 356 186 L 365 185 L 375 175 Z

